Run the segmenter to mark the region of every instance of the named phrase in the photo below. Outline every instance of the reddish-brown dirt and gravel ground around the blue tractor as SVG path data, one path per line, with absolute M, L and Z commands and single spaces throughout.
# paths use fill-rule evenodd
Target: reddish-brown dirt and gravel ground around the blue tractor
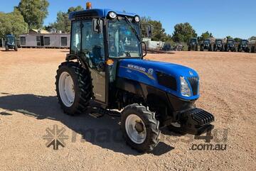
M 200 150 L 209 144 L 206 140 L 163 130 L 153 153 L 139 154 L 122 140 L 119 118 L 63 114 L 55 71 L 66 53 L 0 50 L 0 170 L 255 170 L 256 54 L 148 55 L 198 72 L 201 98 L 196 105 L 215 115 L 210 144 L 226 149 Z M 43 139 L 55 124 L 65 128 L 66 136 L 65 147 L 58 150 L 47 148 Z

